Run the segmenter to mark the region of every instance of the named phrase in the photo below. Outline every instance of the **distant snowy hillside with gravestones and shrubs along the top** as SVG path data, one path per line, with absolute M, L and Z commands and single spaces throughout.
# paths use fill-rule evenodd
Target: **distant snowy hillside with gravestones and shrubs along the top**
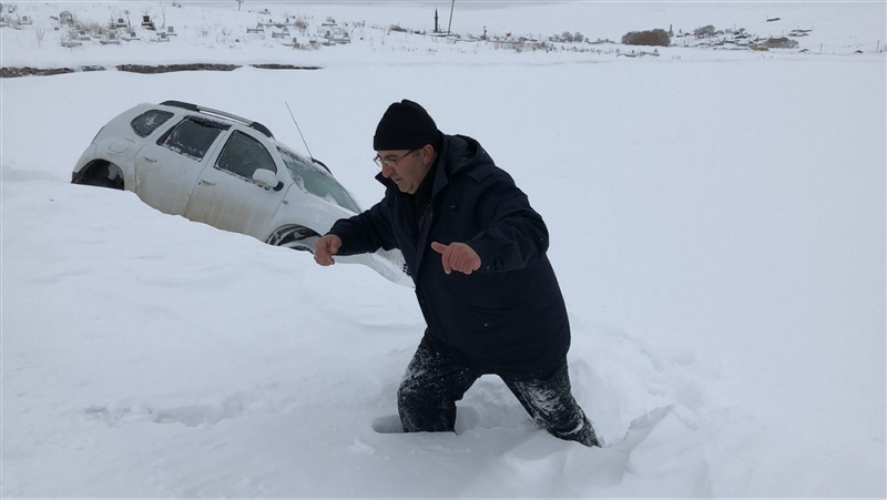
M 820 3 L 816 9 L 791 2 L 750 2 L 741 8 L 717 2 L 457 3 L 450 17 L 449 2 L 380 2 L 366 7 L 354 2 L 247 1 L 239 11 L 233 1 L 11 2 L 3 3 L 2 16 L 10 27 L 0 31 L 2 65 L 329 65 L 502 60 L 540 63 L 574 60 L 575 52 L 583 60 L 610 61 L 632 51 L 652 52 L 652 48 L 598 41 L 619 42 L 630 31 L 652 29 L 671 30 L 674 34 L 675 47 L 659 50 L 660 57 L 669 59 L 771 55 L 743 47 L 753 39 L 764 44 L 769 38 L 789 38 L 798 42 L 797 49 L 781 52 L 820 54 L 876 53 L 884 51 L 887 42 L 885 7 L 878 3 L 833 2 Z M 441 31 L 437 34 L 436 11 Z M 64 22 L 67 19 L 70 22 Z M 146 20 L 151 28 L 143 25 Z M 712 40 L 684 37 L 708 25 L 726 34 Z M 453 37 L 441 35 L 448 28 Z M 115 33 L 111 43 L 109 32 Z M 550 41 L 563 33 L 580 34 L 585 41 Z M 73 40 L 69 40 L 72 35 Z M 334 43 L 343 41 L 348 43 Z M 74 47 L 60 50 L 62 42 Z M 718 50 L 685 49 L 708 42 L 722 44 L 716 47 Z

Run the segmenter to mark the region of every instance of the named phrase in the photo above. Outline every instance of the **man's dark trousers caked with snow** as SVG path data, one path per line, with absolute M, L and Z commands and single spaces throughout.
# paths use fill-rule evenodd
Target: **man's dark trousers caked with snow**
M 462 399 L 481 375 L 436 350 L 422 337 L 397 392 L 404 431 L 453 432 L 456 401 Z M 591 422 L 572 396 L 565 364 L 546 379 L 502 377 L 502 381 L 537 425 L 552 436 L 600 446 Z

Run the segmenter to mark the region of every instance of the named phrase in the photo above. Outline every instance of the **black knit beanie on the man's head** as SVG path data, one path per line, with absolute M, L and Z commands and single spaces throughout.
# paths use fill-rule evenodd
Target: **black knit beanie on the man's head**
M 419 104 L 402 100 L 388 106 L 373 136 L 375 151 L 418 150 L 439 146 L 437 124 Z

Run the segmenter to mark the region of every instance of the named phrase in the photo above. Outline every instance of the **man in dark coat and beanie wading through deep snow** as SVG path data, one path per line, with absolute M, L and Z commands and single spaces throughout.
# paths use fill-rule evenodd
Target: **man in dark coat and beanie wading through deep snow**
M 404 253 L 428 324 L 397 395 L 404 430 L 453 431 L 456 401 L 496 374 L 551 435 L 600 446 L 571 394 L 567 309 L 527 195 L 477 141 L 442 134 L 408 100 L 385 112 L 373 147 L 385 198 L 338 221 L 315 259 Z

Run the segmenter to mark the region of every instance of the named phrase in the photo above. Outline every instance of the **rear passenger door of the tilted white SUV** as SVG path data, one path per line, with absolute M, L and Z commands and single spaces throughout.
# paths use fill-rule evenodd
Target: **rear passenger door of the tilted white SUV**
M 194 184 L 230 125 L 185 116 L 135 155 L 135 193 L 161 212 L 184 215 Z

